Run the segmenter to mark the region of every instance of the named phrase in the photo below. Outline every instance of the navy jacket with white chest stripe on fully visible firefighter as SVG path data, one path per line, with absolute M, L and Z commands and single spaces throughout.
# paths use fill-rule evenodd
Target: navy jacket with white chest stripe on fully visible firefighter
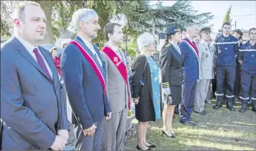
M 224 37 L 219 34 L 215 39 L 216 66 L 236 66 L 235 55 L 238 52 L 239 40 L 232 36 Z

